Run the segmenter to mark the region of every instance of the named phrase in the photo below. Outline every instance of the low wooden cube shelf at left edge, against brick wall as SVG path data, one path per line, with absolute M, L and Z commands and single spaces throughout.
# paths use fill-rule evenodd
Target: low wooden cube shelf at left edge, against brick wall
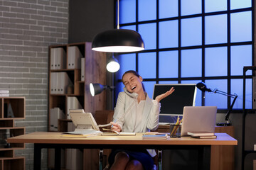
M 0 98 L 0 169 L 25 169 L 25 157 L 16 157 L 16 149 L 24 149 L 24 144 L 5 141 L 6 137 L 15 137 L 25 134 L 24 127 L 15 127 L 15 120 L 25 118 L 24 97 L 1 97 Z M 12 112 L 11 112 L 12 111 Z

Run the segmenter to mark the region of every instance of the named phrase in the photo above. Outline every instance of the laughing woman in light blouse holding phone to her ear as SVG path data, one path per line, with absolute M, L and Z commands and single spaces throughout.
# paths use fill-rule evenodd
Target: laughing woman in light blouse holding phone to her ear
M 144 91 L 142 77 L 133 70 L 125 72 L 122 76 L 124 91 L 120 92 L 114 109 L 114 122 L 112 130 L 118 132 L 147 132 L 156 130 L 159 125 L 159 112 L 161 99 L 174 92 L 171 88 L 165 94 L 156 96 L 155 100 L 149 98 Z M 154 150 L 122 150 L 113 149 L 110 157 L 110 169 L 144 169 L 151 170 L 154 166 L 152 157 Z

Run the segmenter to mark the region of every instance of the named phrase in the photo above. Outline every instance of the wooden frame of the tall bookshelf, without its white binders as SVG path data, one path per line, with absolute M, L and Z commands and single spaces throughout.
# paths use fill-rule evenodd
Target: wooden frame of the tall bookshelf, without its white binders
M 53 45 L 50 46 L 49 61 L 54 62 L 52 52 L 55 52 L 55 48 L 62 48 L 60 52 L 63 57 L 63 66 L 62 69 L 55 69 L 55 64 L 49 63 L 49 100 L 48 100 L 48 131 L 57 130 L 55 128 L 56 122 L 58 124 L 58 131 L 67 132 L 68 124 L 71 122 L 68 118 L 68 99 L 69 97 L 75 97 L 80 102 L 80 105 L 85 110 L 85 112 L 90 112 L 92 115 L 95 114 L 96 110 L 105 110 L 106 108 L 106 93 L 105 91 L 102 94 L 92 97 L 90 94 L 89 84 L 90 83 L 100 83 L 106 84 L 106 53 L 105 52 L 94 52 L 91 49 L 91 42 L 79 42 L 66 45 Z M 75 53 L 70 53 L 70 47 L 75 48 Z M 79 52 L 78 52 L 79 51 Z M 75 67 L 77 69 L 68 69 L 71 68 L 68 63 L 70 57 L 76 58 L 76 54 L 79 54 L 85 60 L 85 72 L 82 73 L 82 69 Z M 54 53 L 55 54 L 55 53 Z M 81 61 L 81 60 L 80 60 Z M 81 64 L 79 62 L 79 64 Z M 65 72 L 68 74 L 70 81 L 72 81 L 71 93 L 67 94 L 53 94 L 50 93 L 51 84 L 53 84 L 53 79 L 51 79 L 51 74 L 58 74 L 59 72 Z M 85 76 L 85 81 L 81 81 L 81 75 Z M 64 113 L 65 118 L 58 118 L 58 115 L 51 115 L 50 111 L 53 111 L 54 108 L 60 108 Z M 53 125 L 54 122 L 54 125 Z M 51 126 L 52 124 L 52 126 Z M 54 127 L 54 128 L 51 128 Z M 50 157 L 50 155 L 49 155 Z M 91 159 L 95 157 L 90 157 L 84 159 L 84 162 L 91 162 Z M 97 158 L 96 158 L 97 159 Z M 48 166 L 53 164 L 53 160 L 49 159 Z M 90 164 L 89 164 L 90 166 Z M 94 167 L 84 166 L 84 169 L 98 169 L 96 165 Z

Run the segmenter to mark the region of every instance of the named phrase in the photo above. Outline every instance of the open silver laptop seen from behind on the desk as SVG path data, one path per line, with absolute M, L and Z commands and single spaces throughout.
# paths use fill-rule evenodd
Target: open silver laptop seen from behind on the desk
M 188 136 L 188 132 L 214 132 L 216 114 L 216 106 L 185 106 L 181 136 Z

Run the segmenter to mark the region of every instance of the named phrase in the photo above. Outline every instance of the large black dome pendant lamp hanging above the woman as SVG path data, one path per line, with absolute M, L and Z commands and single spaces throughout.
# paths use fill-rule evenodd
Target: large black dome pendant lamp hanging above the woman
M 92 40 L 92 50 L 100 52 L 137 52 L 144 50 L 142 36 L 134 30 L 119 29 L 119 0 L 117 0 L 117 29 L 99 33 Z

